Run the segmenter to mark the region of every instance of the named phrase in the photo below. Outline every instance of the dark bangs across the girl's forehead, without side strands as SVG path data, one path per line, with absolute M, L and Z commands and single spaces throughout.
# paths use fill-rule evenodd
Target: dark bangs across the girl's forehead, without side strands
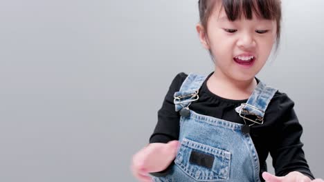
M 275 20 L 281 15 L 279 3 L 276 0 L 223 0 L 222 6 L 230 21 L 240 19 L 242 15 L 252 19 L 253 12 L 260 19 Z

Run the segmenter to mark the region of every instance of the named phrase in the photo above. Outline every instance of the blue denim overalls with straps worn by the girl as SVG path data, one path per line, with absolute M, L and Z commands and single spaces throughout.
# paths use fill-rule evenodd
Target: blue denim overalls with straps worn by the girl
M 259 159 L 249 132 L 242 124 L 198 114 L 188 106 L 199 99 L 206 76 L 189 74 L 174 93 L 175 110 L 180 111 L 181 146 L 170 173 L 154 181 L 260 181 Z M 259 82 L 251 97 L 235 110 L 245 121 L 262 124 L 264 111 L 276 93 Z

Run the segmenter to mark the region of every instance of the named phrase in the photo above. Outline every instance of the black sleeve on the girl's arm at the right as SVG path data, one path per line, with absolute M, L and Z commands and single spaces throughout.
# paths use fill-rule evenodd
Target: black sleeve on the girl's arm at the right
M 305 159 L 303 143 L 300 141 L 303 128 L 296 117 L 294 101 L 291 101 L 287 94 L 282 94 L 276 115 L 275 133 L 270 148 L 276 176 L 298 171 L 314 179 Z

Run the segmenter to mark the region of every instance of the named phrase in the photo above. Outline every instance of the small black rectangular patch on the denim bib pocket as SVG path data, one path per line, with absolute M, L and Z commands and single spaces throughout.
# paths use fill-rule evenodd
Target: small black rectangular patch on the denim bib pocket
M 205 168 L 213 168 L 214 156 L 192 150 L 189 162 L 195 165 L 201 165 Z

